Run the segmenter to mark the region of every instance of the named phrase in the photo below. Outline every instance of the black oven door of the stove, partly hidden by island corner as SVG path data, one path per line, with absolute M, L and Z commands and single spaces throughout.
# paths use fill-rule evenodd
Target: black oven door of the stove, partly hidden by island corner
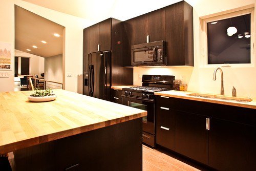
M 155 103 L 153 99 L 143 99 L 122 95 L 122 104 L 147 111 L 142 118 L 143 131 L 155 135 Z

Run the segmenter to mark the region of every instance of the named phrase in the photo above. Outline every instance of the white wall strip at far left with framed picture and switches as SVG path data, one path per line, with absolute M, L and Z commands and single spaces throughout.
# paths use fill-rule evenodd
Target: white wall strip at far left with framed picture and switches
M 13 0 L 0 1 L 0 41 L 9 42 L 12 44 L 12 71 L 7 72 L 8 78 L 0 78 L 0 92 L 14 91 L 14 5 Z

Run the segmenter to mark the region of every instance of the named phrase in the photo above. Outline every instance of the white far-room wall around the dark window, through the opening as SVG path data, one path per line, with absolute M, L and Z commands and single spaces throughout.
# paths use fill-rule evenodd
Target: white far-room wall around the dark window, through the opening
M 29 57 L 29 75 L 38 75 L 45 70 L 45 58 L 15 49 L 15 56 Z

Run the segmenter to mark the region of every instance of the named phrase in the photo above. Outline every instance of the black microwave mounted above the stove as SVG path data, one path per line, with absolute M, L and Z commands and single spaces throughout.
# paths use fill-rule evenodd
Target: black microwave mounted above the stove
M 166 66 L 165 41 L 132 45 L 132 66 Z

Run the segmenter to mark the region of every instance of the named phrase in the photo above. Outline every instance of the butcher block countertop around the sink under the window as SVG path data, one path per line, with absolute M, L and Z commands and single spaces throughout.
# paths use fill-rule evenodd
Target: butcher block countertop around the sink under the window
M 170 91 L 156 92 L 155 95 L 182 98 L 182 99 L 188 99 L 188 100 L 196 100 L 196 101 L 204 101 L 204 102 L 218 103 L 218 104 L 225 104 L 225 105 L 232 105 L 232 106 L 239 106 L 242 108 L 256 109 L 256 99 L 252 99 L 252 101 L 250 101 L 250 102 L 240 102 L 240 101 L 233 101 L 233 100 L 222 100 L 222 99 L 195 97 L 195 96 L 188 95 L 188 94 L 192 94 L 192 93 L 196 93 L 196 92 L 170 90 Z M 205 93 L 200 93 L 200 94 L 205 94 Z M 207 94 L 205 94 L 205 95 L 207 95 Z M 210 95 L 210 94 L 208 94 L 208 95 Z

